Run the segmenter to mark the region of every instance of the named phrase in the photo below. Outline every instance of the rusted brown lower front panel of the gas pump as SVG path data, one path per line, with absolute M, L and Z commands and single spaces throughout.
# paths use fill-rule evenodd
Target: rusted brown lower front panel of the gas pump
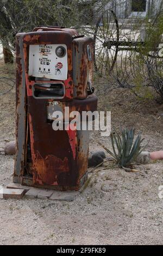
M 46 100 L 28 97 L 34 184 L 75 186 L 78 178 L 76 131 L 54 131 L 47 123 Z M 71 140 L 73 139 L 74 149 Z M 75 144 L 76 143 L 76 144 Z

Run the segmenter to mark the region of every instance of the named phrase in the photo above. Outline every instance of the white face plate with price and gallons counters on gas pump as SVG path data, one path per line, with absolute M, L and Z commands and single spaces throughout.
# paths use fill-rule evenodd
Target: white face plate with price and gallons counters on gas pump
M 65 48 L 63 57 L 55 53 L 59 46 Z M 67 46 L 61 45 L 30 45 L 28 75 L 54 80 L 66 80 L 68 72 Z

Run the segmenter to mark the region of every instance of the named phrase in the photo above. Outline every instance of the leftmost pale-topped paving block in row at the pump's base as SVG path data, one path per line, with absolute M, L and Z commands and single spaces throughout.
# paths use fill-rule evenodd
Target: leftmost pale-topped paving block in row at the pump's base
M 0 190 L 0 198 L 2 199 L 20 199 L 24 196 L 25 191 L 15 188 L 2 188 Z

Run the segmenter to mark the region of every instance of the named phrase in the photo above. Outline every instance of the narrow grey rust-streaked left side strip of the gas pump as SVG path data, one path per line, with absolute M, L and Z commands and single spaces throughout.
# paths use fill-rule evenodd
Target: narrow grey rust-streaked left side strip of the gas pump
M 16 36 L 16 159 L 14 182 L 20 183 L 24 170 L 26 145 L 26 78 L 23 60 L 23 41 L 25 33 Z

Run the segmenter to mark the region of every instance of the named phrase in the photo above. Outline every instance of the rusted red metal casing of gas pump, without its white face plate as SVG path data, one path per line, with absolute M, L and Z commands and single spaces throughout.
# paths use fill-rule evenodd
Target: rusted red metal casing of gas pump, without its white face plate
M 34 32 L 17 35 L 18 139 L 14 182 L 55 190 L 78 190 L 87 177 L 89 132 L 54 131 L 48 120 L 51 120 L 49 113 L 61 110 L 64 114 L 65 107 L 80 114 L 97 109 L 97 97 L 87 96 L 87 82 L 92 79 L 87 45 L 91 48 L 92 40 L 77 40 L 76 36 L 74 29 L 65 28 L 35 28 Z M 76 40 L 74 45 L 73 40 Z M 64 97 L 55 100 L 34 97 L 35 84 L 40 88 L 47 83 L 55 84 L 55 80 L 49 82 L 49 79 L 28 75 L 29 45 L 62 43 L 68 52 L 67 80 L 58 81 L 64 84 Z M 78 54 L 72 54 L 73 48 Z

